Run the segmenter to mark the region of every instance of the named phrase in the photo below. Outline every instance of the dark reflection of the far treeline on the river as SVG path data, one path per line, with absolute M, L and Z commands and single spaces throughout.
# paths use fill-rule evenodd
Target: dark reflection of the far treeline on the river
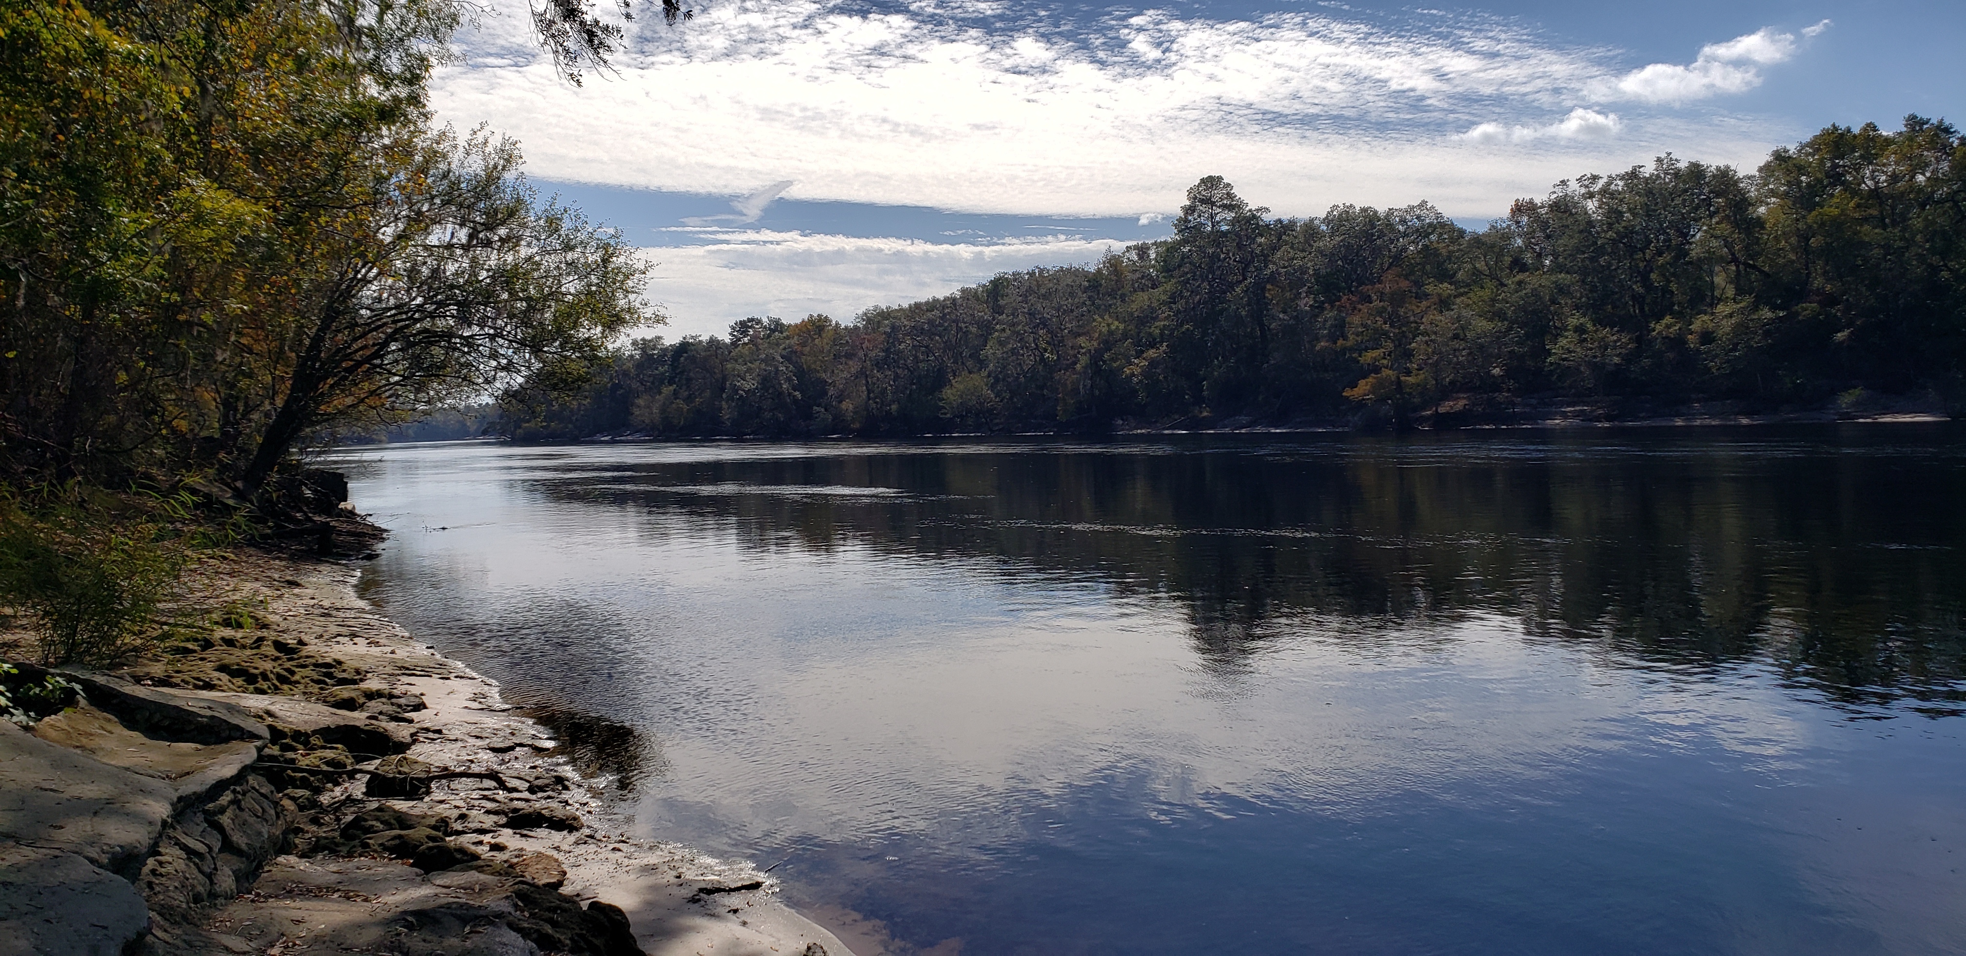
M 1394 629 L 1374 622 L 1480 612 L 1687 679 L 1765 661 L 1852 708 L 1966 704 L 1966 445 L 1946 425 L 804 450 L 545 490 L 722 519 L 757 549 L 1168 596 L 1215 673 L 1305 620 L 1368 645 Z

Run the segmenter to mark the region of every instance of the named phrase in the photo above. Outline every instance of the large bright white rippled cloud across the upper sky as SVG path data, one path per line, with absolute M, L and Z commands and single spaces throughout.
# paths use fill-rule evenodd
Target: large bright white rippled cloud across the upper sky
M 1592 114 L 1604 122 L 1549 134 L 1567 149 L 1474 148 L 1465 132 L 1482 120 L 1561 114 L 1620 77 L 1610 51 L 1512 22 L 1146 12 L 1070 35 L 924 10 L 718 4 L 682 30 L 641 30 L 619 75 L 584 87 L 537 61 L 523 22 L 488 20 L 434 102 L 515 134 L 545 179 L 686 193 L 796 179 L 796 199 L 1101 216 L 1174 209 L 1209 173 L 1284 214 L 1416 199 L 1492 214 L 1693 136 L 1714 161 L 1771 142 Z

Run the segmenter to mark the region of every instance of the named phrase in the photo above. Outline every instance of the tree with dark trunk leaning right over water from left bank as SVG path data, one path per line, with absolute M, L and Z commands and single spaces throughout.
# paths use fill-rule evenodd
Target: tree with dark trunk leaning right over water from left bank
M 484 395 L 598 358 L 653 319 L 635 293 L 641 260 L 578 210 L 539 205 L 511 142 L 438 132 L 405 149 L 397 175 L 354 197 L 334 256 L 295 287 L 285 334 L 254 354 L 275 401 L 240 472 L 246 490 L 313 429 Z

